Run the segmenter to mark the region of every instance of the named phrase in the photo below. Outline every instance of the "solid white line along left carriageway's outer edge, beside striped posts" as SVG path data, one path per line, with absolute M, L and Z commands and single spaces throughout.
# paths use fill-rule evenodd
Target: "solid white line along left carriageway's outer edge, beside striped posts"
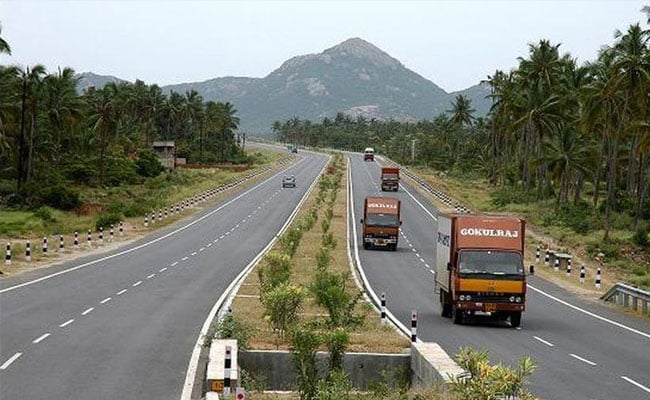
M 115 257 L 119 257 L 119 256 L 123 256 L 125 254 L 133 253 L 136 250 L 140 250 L 140 249 L 142 249 L 144 247 L 148 247 L 148 246 L 150 246 L 150 245 L 152 245 L 154 243 L 158 243 L 161 240 L 164 240 L 164 239 L 167 239 L 170 236 L 176 235 L 177 233 L 184 231 L 185 229 L 189 228 L 190 226 L 198 224 L 200 221 L 203 221 L 204 219 L 211 217 L 212 215 L 214 215 L 217 212 L 221 211 L 223 208 L 229 206 L 230 204 L 232 204 L 235 201 L 239 200 L 240 198 L 244 197 L 248 193 L 251 193 L 252 191 L 257 190 L 257 188 L 259 188 L 260 186 L 265 185 L 268 182 L 271 182 L 271 180 L 275 179 L 277 176 L 282 175 L 287 169 L 294 168 L 295 166 L 297 166 L 298 164 L 300 164 L 304 160 L 306 160 L 306 158 L 302 158 L 302 159 L 298 160 L 296 163 L 290 164 L 287 168 L 281 169 L 280 171 L 278 171 L 278 173 L 270 176 L 268 179 L 263 180 L 262 182 L 258 183 L 257 185 L 253 186 L 252 188 L 242 192 L 238 196 L 232 198 L 228 202 L 222 204 L 221 206 L 219 206 L 218 208 L 210 211 L 209 213 L 205 214 L 204 216 L 199 217 L 199 218 L 189 222 L 187 225 L 181 226 L 180 228 L 178 228 L 178 229 L 176 229 L 176 230 L 174 230 L 172 232 L 169 232 L 169 233 L 167 233 L 167 234 L 165 234 L 165 235 L 163 235 L 163 236 L 161 236 L 159 238 L 153 239 L 153 240 L 151 240 L 149 242 L 146 242 L 146 243 L 142 243 L 141 245 L 132 247 L 130 249 L 120 251 L 119 253 L 111 254 L 109 256 L 98 258 L 96 260 L 89 261 L 89 262 L 83 263 L 81 265 L 77 265 L 77 266 L 74 266 L 74 267 L 71 267 L 71 268 L 68 268 L 68 269 L 64 269 L 63 271 L 59 271 L 59 272 L 55 272 L 55 273 L 50 274 L 50 275 L 42 276 L 42 277 L 40 277 L 38 279 L 34 279 L 32 281 L 23 282 L 21 284 L 14 285 L 14 286 L 9 286 L 7 288 L 1 289 L 0 294 L 5 293 L 5 292 L 9 292 L 9 291 L 12 291 L 12 290 L 16 290 L 16 289 L 19 289 L 19 288 L 22 288 L 22 287 L 25 287 L 25 286 L 33 285 L 35 283 L 42 282 L 42 281 L 54 278 L 55 276 L 67 274 L 68 272 L 76 271 L 76 270 L 78 270 L 80 268 L 85 268 L 85 267 L 88 267 L 88 266 L 91 266 L 91 265 L 94 265 L 94 264 L 98 264 L 100 262 L 110 260 L 110 259 L 115 258 Z

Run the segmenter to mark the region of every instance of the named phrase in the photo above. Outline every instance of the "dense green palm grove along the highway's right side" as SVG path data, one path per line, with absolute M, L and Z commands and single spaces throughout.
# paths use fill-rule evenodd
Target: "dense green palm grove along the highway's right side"
M 278 121 L 273 129 L 282 141 L 373 146 L 401 163 L 483 180 L 496 208 L 542 205 L 551 211 L 548 224 L 576 235 L 599 232 L 593 254 L 627 246 L 636 253 L 632 265 L 647 273 L 650 30 L 637 23 L 617 32 L 597 60 L 582 65 L 548 40 L 530 44 L 518 61 L 485 81 L 493 100 L 486 118 L 474 118 L 471 102 L 458 96 L 432 120 L 338 114 L 319 123 Z

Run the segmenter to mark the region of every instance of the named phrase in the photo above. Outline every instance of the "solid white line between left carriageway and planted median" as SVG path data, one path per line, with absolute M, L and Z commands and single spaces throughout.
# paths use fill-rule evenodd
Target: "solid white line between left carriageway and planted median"
M 318 175 L 316 175 L 316 178 L 314 179 L 314 182 L 311 184 L 303 198 L 300 200 L 296 208 L 294 209 L 293 213 L 289 216 L 285 224 L 280 228 L 278 233 L 271 239 L 271 241 L 266 245 L 264 249 L 260 253 L 257 254 L 257 256 L 242 270 L 242 272 L 239 273 L 239 275 L 228 285 L 226 290 L 221 294 L 217 302 L 214 304 L 212 309 L 210 310 L 210 313 L 208 314 L 208 317 L 205 319 L 205 322 L 203 323 L 203 326 L 201 327 L 201 331 L 199 332 L 199 337 L 196 339 L 196 343 L 194 345 L 194 350 L 192 351 L 192 355 L 190 356 L 190 362 L 187 367 L 187 374 L 185 375 L 185 382 L 183 383 L 183 391 L 181 392 L 181 400 L 191 400 L 192 398 L 192 391 L 194 389 L 194 381 L 196 379 L 196 369 L 198 367 L 198 362 L 199 362 L 199 356 L 201 355 L 201 349 L 203 347 L 203 340 L 207 336 L 208 329 L 210 328 L 210 325 L 212 324 L 212 320 L 214 317 L 217 315 L 217 312 L 219 309 L 222 307 L 224 301 L 231 295 L 234 294 L 235 291 L 233 290 L 235 287 L 239 287 L 238 285 L 243 282 L 244 278 L 248 275 L 250 271 L 255 267 L 255 265 L 262 259 L 262 256 L 275 244 L 275 242 L 278 240 L 278 238 L 282 235 L 284 230 L 289 226 L 289 224 L 293 221 L 294 217 L 298 214 L 298 211 L 300 210 L 300 207 L 302 206 L 303 202 L 307 197 L 309 196 L 309 193 L 311 193 L 312 189 L 316 186 L 316 182 L 318 182 L 318 178 L 321 176 L 323 171 L 325 171 L 325 167 L 327 167 L 327 164 L 329 162 L 329 159 L 331 158 L 328 157 L 328 161 L 325 163 L 323 168 L 320 170 Z M 302 160 L 306 160 L 306 158 L 303 158 Z M 302 161 L 301 160 L 301 161 Z M 296 163 L 297 164 L 297 163 Z M 295 164 L 294 164 L 295 165 Z M 276 174 L 274 176 L 277 176 L 279 174 Z

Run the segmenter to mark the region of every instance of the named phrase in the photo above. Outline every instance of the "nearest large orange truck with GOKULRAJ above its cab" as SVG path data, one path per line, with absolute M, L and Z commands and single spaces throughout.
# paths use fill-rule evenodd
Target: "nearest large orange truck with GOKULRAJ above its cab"
M 467 316 L 485 314 L 521 325 L 525 228 L 526 221 L 505 215 L 438 215 L 434 293 L 443 317 L 460 324 Z

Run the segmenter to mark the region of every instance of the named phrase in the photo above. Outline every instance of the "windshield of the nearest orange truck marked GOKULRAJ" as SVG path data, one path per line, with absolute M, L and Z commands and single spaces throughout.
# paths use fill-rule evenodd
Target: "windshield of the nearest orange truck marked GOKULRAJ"
M 523 275 L 521 255 L 490 250 L 463 250 L 460 252 L 460 273 Z

